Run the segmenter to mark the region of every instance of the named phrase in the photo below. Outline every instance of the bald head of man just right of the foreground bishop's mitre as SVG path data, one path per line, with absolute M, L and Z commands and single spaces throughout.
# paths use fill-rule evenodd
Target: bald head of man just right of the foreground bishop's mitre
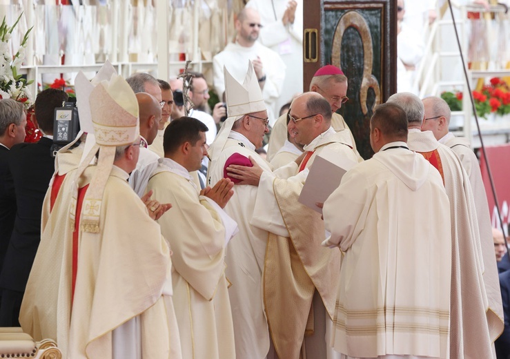
M 147 144 L 152 144 L 161 121 L 161 106 L 153 95 L 148 93 L 135 95 L 139 108 L 140 135 L 146 139 Z

